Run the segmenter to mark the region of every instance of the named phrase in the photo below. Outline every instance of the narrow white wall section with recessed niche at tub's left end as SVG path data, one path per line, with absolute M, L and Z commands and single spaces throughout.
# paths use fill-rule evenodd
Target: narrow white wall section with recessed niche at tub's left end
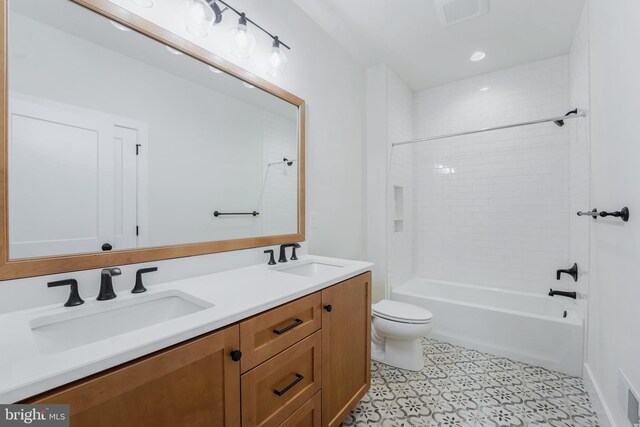
M 385 296 L 387 281 L 397 284 L 412 272 L 411 150 L 391 150 L 391 143 L 411 138 L 412 108 L 411 90 L 391 68 L 380 64 L 367 69 L 367 259 L 376 264 L 374 301 Z M 402 218 L 396 216 L 394 186 L 402 187 Z M 397 219 L 402 220 L 399 232 L 394 229 Z

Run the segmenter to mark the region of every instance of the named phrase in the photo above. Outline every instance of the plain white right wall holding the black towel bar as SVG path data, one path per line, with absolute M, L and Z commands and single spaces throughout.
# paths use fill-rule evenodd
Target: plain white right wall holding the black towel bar
M 640 2 L 590 0 L 591 205 L 628 223 L 591 223 L 587 364 L 614 422 L 629 426 L 620 371 L 640 391 Z

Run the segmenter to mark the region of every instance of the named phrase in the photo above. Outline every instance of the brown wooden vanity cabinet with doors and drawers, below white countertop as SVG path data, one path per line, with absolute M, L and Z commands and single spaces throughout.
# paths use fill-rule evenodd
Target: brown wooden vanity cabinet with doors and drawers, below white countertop
M 25 403 L 69 404 L 73 427 L 338 426 L 369 389 L 370 334 L 364 273 Z

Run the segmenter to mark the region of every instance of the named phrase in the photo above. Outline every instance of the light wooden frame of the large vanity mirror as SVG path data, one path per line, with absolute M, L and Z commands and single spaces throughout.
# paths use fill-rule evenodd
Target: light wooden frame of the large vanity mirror
M 305 239 L 305 103 L 297 96 L 269 83 L 266 80 L 238 67 L 216 54 L 189 42 L 178 35 L 153 24 L 108 0 L 71 0 L 107 19 L 119 22 L 152 39 L 170 46 L 201 62 L 212 65 L 227 74 L 252 84 L 284 101 L 298 107 L 298 232 L 295 234 L 252 237 L 236 240 L 192 243 L 174 246 L 127 249 L 116 252 L 96 252 L 77 255 L 9 259 L 9 218 L 8 218 L 8 81 L 7 81 L 7 19 L 9 0 L 0 0 L 0 79 L 2 114 L 0 115 L 0 280 L 88 270 L 114 265 L 135 264 L 194 255 L 205 255 L 239 249 L 257 248 Z

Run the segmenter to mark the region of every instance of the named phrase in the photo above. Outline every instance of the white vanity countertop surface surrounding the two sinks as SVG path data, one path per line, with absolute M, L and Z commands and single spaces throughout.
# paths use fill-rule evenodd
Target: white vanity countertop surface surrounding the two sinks
M 278 271 L 284 266 L 321 262 L 340 266 L 330 272 L 305 277 Z M 109 301 L 86 298 L 78 307 L 47 305 L 0 314 L 0 403 L 13 403 L 54 387 L 84 378 L 140 356 L 235 323 L 254 314 L 334 285 L 371 270 L 373 264 L 301 256 L 298 261 L 269 266 L 254 265 L 205 276 L 154 285 L 143 294 L 120 292 Z M 31 322 L 73 310 L 104 309 L 141 295 L 178 290 L 214 304 L 202 311 L 147 326 L 80 347 L 43 354 Z

